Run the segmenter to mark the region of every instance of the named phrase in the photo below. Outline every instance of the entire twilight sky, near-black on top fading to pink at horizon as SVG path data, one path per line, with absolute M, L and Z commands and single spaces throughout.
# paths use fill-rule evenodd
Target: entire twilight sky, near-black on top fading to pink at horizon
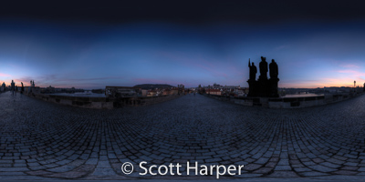
M 247 87 L 248 60 L 258 65 L 261 56 L 276 60 L 278 87 L 365 82 L 365 15 L 356 4 L 27 6 L 1 9 L 0 84 Z

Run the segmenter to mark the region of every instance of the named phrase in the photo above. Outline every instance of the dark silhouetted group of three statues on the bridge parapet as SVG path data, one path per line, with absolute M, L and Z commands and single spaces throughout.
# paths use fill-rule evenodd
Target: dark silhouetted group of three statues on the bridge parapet
M 256 80 L 257 68 L 254 63 L 251 63 L 248 59 L 248 67 L 250 68 L 250 78 L 247 83 L 249 86 L 248 96 L 260 96 L 260 97 L 278 97 L 277 83 L 279 81 L 278 68 L 275 60 L 273 59 L 269 66 L 267 66 L 266 57 L 261 56 L 260 76 Z M 270 70 L 270 79 L 267 78 L 267 71 Z

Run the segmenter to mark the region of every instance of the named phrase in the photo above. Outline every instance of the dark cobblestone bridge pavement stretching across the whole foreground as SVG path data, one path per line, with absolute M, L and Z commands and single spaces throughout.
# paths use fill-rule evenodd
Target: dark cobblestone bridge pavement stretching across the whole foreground
M 269 109 L 188 95 L 96 110 L 0 94 L 0 179 L 215 179 L 140 176 L 138 164 L 245 165 L 245 177 L 365 179 L 365 96 Z M 130 175 L 124 162 L 134 164 Z M 153 170 L 155 171 L 155 170 Z M 193 173 L 193 172 L 192 172 Z

